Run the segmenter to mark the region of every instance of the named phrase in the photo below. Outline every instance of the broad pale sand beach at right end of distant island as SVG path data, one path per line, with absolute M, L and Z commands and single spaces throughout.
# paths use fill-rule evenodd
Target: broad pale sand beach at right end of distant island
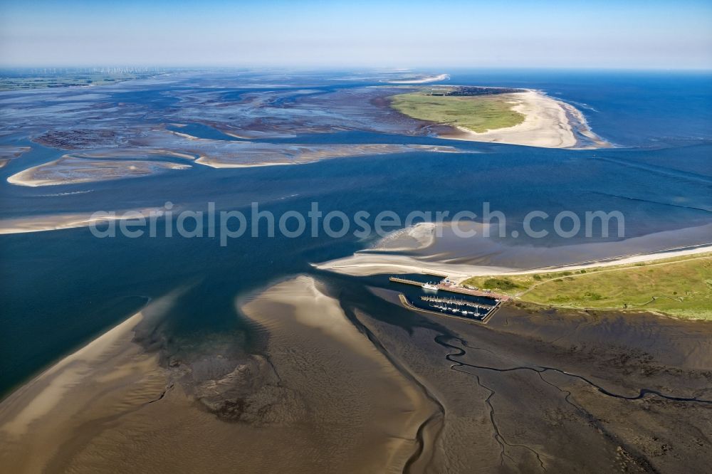
M 574 127 L 577 125 L 577 130 L 582 130 L 587 137 L 595 139 L 597 146 L 609 146 L 590 131 L 583 115 L 571 105 L 535 90 L 506 94 L 506 96 L 511 97 L 515 104 L 512 110 L 525 115 L 524 122 L 514 127 L 488 130 L 482 133 L 457 127 L 459 133 L 443 135 L 443 137 L 530 147 L 572 148 L 576 147 L 578 143 L 574 133 Z M 574 121 L 577 124 L 574 124 Z

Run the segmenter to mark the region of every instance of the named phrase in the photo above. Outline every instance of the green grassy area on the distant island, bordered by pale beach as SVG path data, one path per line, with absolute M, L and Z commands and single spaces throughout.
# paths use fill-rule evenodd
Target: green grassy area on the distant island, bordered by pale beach
M 461 97 L 408 93 L 394 95 L 391 100 L 394 109 L 409 117 L 478 133 L 513 127 L 525 119 L 520 112 L 511 110 L 515 104 L 510 94 Z

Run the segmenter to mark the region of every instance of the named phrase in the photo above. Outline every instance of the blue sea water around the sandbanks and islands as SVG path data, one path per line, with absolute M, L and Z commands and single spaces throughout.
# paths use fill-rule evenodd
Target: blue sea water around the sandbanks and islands
M 308 80 L 312 87 L 362 85 L 334 85 L 327 75 Z M 414 210 L 454 214 L 477 211 L 488 201 L 513 226 L 535 209 L 552 215 L 619 210 L 626 218 L 626 238 L 712 222 L 712 74 L 456 70 L 450 83 L 544 90 L 582 110 L 592 130 L 617 147 L 562 150 L 463 143 L 472 153 L 412 152 L 251 169 L 194 167 L 142 179 L 28 188 L 5 179 L 63 152 L 15 132 L 2 143 L 33 149 L 0 169 L 0 217 L 141 209 L 165 201 L 182 209 L 204 209 L 206 202 L 215 201 L 220 209 L 244 211 L 258 201 L 261 209 L 278 215 L 305 213 L 312 201 L 325 213 L 377 214 L 387 209 L 401 215 Z M 150 103 L 156 111 L 179 107 L 163 94 L 170 87 L 117 93 L 106 100 Z M 144 120 L 159 122 L 159 113 Z M 224 139 L 205 125 L 189 127 L 194 135 Z M 283 141 L 453 144 L 367 132 Z M 557 238 L 506 241 L 510 246 L 571 243 Z M 277 233 L 273 238 L 239 238 L 221 247 L 218 238 L 99 239 L 87 228 L 0 236 L 0 394 L 131 315 L 147 298 L 175 288 L 186 290 L 160 327 L 165 339 L 216 332 L 249 335 L 236 312 L 236 297 L 289 275 L 314 273 L 310 263 L 348 256 L 368 244 L 351 234 L 333 239 Z M 346 293 L 363 285 L 359 279 L 325 273 L 320 278 Z M 379 308 L 388 311 L 377 305 L 372 310 Z

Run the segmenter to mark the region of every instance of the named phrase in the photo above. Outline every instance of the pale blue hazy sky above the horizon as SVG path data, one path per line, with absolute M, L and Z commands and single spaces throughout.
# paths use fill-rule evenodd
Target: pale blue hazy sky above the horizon
M 0 66 L 712 68 L 712 0 L 0 0 Z

